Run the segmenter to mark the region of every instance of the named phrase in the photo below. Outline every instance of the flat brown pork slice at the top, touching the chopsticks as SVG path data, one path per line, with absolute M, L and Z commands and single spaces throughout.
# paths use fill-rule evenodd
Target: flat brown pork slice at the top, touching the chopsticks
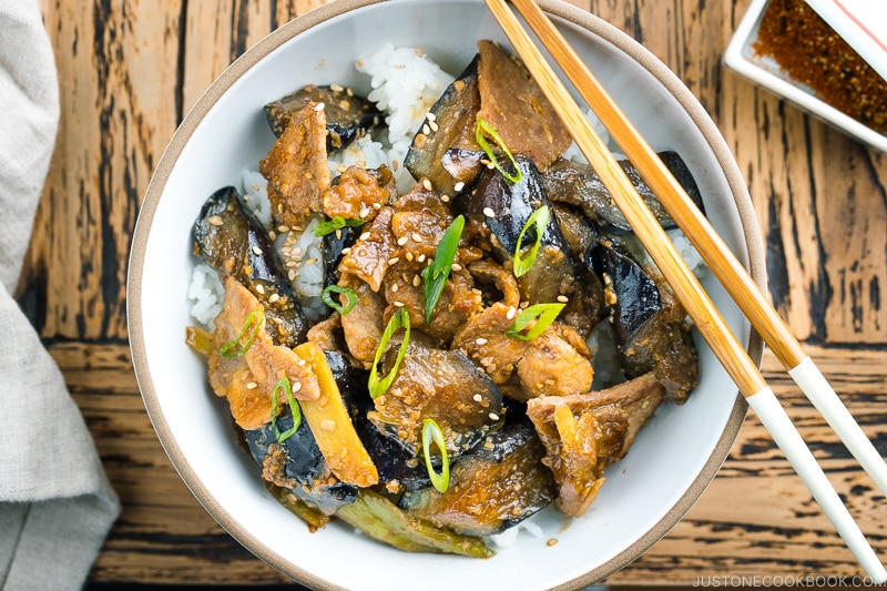
M 479 41 L 480 113 L 512 153 L 544 169 L 572 143 L 570 132 L 542 90 L 514 57 L 491 41 Z

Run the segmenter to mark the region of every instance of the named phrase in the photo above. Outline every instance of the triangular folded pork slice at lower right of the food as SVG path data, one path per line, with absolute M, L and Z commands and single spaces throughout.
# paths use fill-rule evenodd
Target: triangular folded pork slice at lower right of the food
M 527 403 L 527 416 L 547 449 L 543 461 L 560 486 L 561 511 L 585 512 L 605 480 L 604 469 L 624 457 L 663 393 L 655 377 L 645 375 L 608 390 Z

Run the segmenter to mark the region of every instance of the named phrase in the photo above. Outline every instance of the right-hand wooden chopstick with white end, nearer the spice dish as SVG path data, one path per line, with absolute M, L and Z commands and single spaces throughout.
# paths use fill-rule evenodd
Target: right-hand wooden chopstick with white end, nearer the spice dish
M 847 449 L 887 496 L 887 463 L 854 420 L 847 407 L 807 355 L 745 268 L 731 252 L 708 220 L 695 206 L 681 183 L 663 164 L 638 129 L 579 58 L 561 32 L 531 0 L 514 0 L 529 27 L 546 42 L 554 61 L 573 82 L 598 119 L 646 181 L 684 235 L 696 247 L 708 268 L 721 281 L 764 343 L 773 350 L 788 375 L 844 441 Z

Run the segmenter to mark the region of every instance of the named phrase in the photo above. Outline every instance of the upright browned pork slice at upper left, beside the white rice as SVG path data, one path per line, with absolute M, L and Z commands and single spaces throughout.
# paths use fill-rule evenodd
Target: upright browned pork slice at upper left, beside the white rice
M 276 225 L 298 227 L 313 212 L 322 210 L 329 188 L 326 163 L 326 113 L 323 103 L 309 102 L 289 119 L 289 124 L 259 161 L 268 180 L 268 198 Z

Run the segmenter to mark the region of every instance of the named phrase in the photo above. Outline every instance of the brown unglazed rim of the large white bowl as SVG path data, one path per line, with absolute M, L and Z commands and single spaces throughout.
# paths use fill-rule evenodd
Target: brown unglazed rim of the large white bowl
M 265 546 L 262 544 L 255 537 L 253 537 L 249 531 L 233 520 L 227 511 L 225 511 L 224 508 L 215 501 L 208 490 L 206 490 L 203 483 L 195 477 L 193 470 L 188 466 L 187 460 L 182 455 L 182 450 L 171 436 L 169 425 L 163 417 L 163 412 L 157 404 L 157 398 L 153 390 L 153 383 L 150 379 L 150 373 L 146 368 L 146 356 L 142 342 L 142 257 L 146 246 L 147 231 L 153 220 L 154 212 L 156 211 L 160 196 L 163 193 L 166 181 L 172 172 L 173 165 L 175 164 L 177 156 L 181 154 L 188 139 L 194 133 L 194 130 L 197 128 L 200 121 L 206 115 L 216 101 L 218 101 L 220 96 L 222 96 L 222 94 L 227 91 L 227 89 L 231 88 L 231 85 L 244 72 L 258 63 L 263 58 L 265 58 L 285 41 L 293 39 L 297 34 L 307 31 L 317 24 L 320 24 L 330 18 L 384 1 L 386 0 L 337 0 L 310 10 L 269 33 L 256 45 L 247 50 L 241 58 L 234 61 L 218 77 L 218 79 L 213 82 L 213 84 L 206 90 L 206 92 L 204 92 L 193 109 L 185 116 L 184 121 L 176 130 L 175 134 L 170 141 L 170 144 L 161 156 L 160 162 L 157 163 L 157 167 L 152 175 L 147 191 L 145 192 L 145 198 L 143 201 L 142 208 L 139 214 L 139 221 L 135 226 L 130 256 L 130 276 L 128 282 L 130 346 L 132 350 L 133 366 L 140 389 L 142 391 L 145 409 L 147 410 L 149 417 L 154 425 L 154 429 L 157 432 L 161 445 L 166 451 L 166 455 L 170 457 L 176 471 L 191 489 L 192 493 L 233 538 L 235 538 L 241 544 L 243 544 L 246 549 L 248 549 L 257 558 L 262 559 L 271 567 L 313 589 L 330 590 L 341 588 L 334 585 L 328 581 L 318 579 L 313 573 L 293 565 L 288 561 L 284 560 L 279 554 L 275 553 L 272 549 L 265 548 Z M 696 98 L 690 92 L 683 82 L 681 82 L 676 74 L 674 74 L 674 72 L 672 72 L 662 61 L 655 58 L 638 41 L 614 26 L 587 11 L 568 4 L 563 0 L 540 0 L 540 4 L 550 16 L 561 18 L 564 21 L 571 22 L 591 32 L 635 60 L 664 88 L 669 90 L 679 104 L 681 104 L 681 106 L 690 115 L 705 137 L 707 144 L 715 155 L 715 159 L 721 165 L 721 169 L 724 171 L 727 184 L 730 185 L 734 195 L 740 221 L 742 223 L 745 242 L 748 249 L 747 255 L 751 275 L 754 282 L 759 287 L 764 288 L 766 283 L 764 253 L 751 196 L 748 195 L 745 182 L 733 159 L 733 154 L 730 152 L 730 149 L 727 147 L 716 125 L 702 108 Z M 752 332 L 748 344 L 748 354 L 756 365 L 761 364 L 763 356 L 763 343 L 754 330 Z M 139 371 L 140 368 L 144 368 L 141 374 Z M 700 498 L 702 492 L 714 479 L 722 463 L 726 459 L 727 454 L 730 452 L 730 449 L 736 439 L 736 436 L 740 432 L 746 410 L 747 405 L 742 396 L 740 396 L 737 393 L 736 401 L 733 406 L 724 432 L 712 451 L 712 455 L 705 462 L 702 471 L 687 488 L 686 492 L 681 497 L 681 499 L 679 499 L 679 501 L 656 524 L 654 524 L 632 546 L 623 550 L 619 556 L 582 574 L 581 577 L 555 587 L 554 589 L 581 589 L 583 587 L 597 583 L 633 562 L 663 536 L 665 536 L 686 514 L 686 512 Z

